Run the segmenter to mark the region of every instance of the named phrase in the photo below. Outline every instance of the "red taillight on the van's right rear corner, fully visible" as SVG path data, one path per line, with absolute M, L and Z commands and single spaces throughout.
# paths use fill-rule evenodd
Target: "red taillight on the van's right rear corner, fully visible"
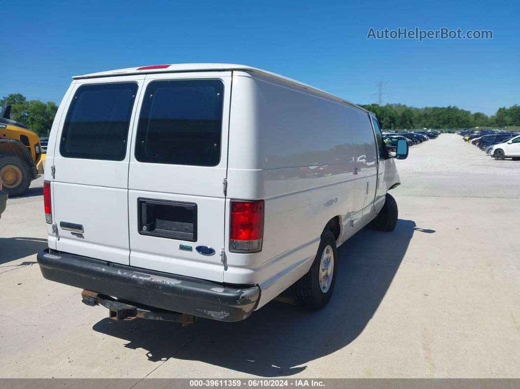
M 263 236 L 264 200 L 231 200 L 229 251 L 260 251 Z

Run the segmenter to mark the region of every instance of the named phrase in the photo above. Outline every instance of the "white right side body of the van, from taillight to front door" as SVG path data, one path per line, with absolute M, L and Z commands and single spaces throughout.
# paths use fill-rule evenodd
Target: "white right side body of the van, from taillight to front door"
M 354 147 L 349 123 L 362 117 L 370 132 Z M 229 131 L 228 198 L 264 199 L 265 222 L 262 251 L 227 253 L 224 281 L 258 283 L 259 307 L 308 271 L 330 219 L 340 217 L 342 236 L 361 227 L 349 220 L 362 215 L 373 146 L 363 142 L 373 135 L 367 114 L 353 106 L 244 72 L 233 72 Z M 355 161 L 363 165 L 358 175 Z

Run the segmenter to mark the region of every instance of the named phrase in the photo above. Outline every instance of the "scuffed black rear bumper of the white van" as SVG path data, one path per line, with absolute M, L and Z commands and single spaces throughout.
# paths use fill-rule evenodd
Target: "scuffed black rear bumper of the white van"
M 50 249 L 38 253 L 37 260 L 43 276 L 51 281 L 214 320 L 243 320 L 260 297 L 258 286 L 233 288 Z

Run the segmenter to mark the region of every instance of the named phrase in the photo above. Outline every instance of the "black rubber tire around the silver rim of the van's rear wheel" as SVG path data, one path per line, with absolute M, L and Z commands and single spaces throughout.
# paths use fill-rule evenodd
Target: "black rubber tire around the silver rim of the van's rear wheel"
M 332 280 L 326 292 L 323 292 L 320 286 L 320 269 L 321 257 L 327 247 L 332 249 Z M 295 294 L 296 305 L 302 306 L 309 310 L 320 310 L 329 302 L 332 292 L 334 291 L 334 284 L 336 283 L 337 271 L 337 248 L 336 239 L 330 230 L 324 230 L 321 234 L 321 242 L 316 253 L 313 265 L 310 267 L 307 274 L 296 281 Z

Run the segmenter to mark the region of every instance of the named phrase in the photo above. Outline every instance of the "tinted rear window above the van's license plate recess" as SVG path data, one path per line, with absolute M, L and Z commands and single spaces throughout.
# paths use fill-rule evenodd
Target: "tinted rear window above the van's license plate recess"
M 154 81 L 142 101 L 135 156 L 141 162 L 215 166 L 220 160 L 218 80 Z

